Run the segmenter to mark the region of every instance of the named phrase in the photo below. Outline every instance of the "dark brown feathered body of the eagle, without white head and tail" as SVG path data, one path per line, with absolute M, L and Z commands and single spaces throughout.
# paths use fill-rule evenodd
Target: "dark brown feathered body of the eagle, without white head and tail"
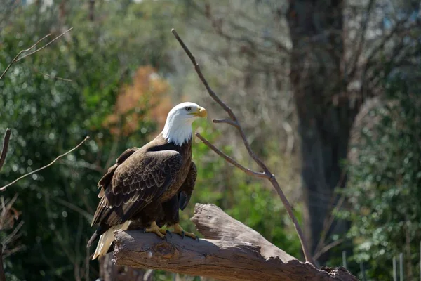
M 196 174 L 191 138 L 175 145 L 160 133 L 142 148 L 123 152 L 98 183 L 101 200 L 92 225 L 100 227 L 88 247 L 109 228 L 127 221 L 136 228 L 148 228 L 155 221 L 159 226 L 178 223 L 178 209 L 189 202 Z

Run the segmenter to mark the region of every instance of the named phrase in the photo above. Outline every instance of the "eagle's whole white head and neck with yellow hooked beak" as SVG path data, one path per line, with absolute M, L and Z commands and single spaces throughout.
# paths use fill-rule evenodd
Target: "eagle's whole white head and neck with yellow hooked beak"
M 162 136 L 167 141 L 182 145 L 192 138 L 192 123 L 199 117 L 208 116 L 208 112 L 196 103 L 180 103 L 168 113 Z

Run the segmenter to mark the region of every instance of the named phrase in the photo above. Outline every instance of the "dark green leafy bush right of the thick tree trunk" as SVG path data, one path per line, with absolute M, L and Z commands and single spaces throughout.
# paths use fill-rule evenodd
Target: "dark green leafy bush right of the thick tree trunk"
M 392 278 L 392 258 L 403 252 L 406 274 L 418 276 L 421 240 L 421 72 L 387 81 L 384 105 L 369 112 L 378 119 L 363 129 L 359 158 L 349 166 L 344 190 L 357 262 L 365 261 L 375 280 Z M 409 278 L 410 279 L 410 278 Z

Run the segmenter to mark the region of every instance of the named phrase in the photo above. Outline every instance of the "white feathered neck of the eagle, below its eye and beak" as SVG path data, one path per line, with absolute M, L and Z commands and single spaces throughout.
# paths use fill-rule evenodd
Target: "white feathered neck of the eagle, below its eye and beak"
M 182 145 L 192 139 L 192 119 L 178 120 L 169 116 L 163 126 L 162 136 L 168 143 Z

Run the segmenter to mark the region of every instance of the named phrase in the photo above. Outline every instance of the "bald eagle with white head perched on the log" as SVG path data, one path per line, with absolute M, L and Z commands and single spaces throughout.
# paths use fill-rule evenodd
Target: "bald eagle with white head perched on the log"
M 98 239 L 93 259 L 104 256 L 115 230 L 132 224 L 165 237 L 173 232 L 196 239 L 179 224 L 178 209 L 185 209 L 196 183 L 192 162 L 192 123 L 207 112 L 196 103 L 180 103 L 168 113 L 163 131 L 142 148 L 123 152 L 98 182 L 100 202 L 91 226 L 99 225 L 87 247 Z

